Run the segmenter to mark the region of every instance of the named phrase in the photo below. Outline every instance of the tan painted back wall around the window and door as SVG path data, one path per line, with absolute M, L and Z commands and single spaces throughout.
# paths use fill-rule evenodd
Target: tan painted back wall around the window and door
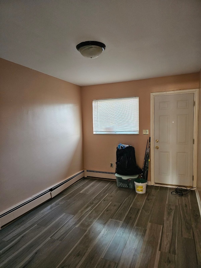
M 198 87 L 199 73 L 82 87 L 84 169 L 115 172 L 118 143 L 135 147 L 136 161 L 142 168 L 149 137 L 142 134 L 143 129 L 150 133 L 150 93 Z M 93 134 L 92 101 L 128 96 L 139 96 L 139 135 Z M 114 168 L 110 162 L 114 162 Z

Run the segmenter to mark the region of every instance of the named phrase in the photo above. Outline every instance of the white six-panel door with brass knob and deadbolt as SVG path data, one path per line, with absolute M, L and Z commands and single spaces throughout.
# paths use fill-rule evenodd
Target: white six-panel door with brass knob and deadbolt
M 193 186 L 194 93 L 154 98 L 155 183 Z

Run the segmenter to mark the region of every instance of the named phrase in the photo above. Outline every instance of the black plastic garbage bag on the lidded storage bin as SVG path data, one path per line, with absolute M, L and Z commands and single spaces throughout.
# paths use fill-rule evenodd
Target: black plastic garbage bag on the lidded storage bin
M 136 165 L 135 148 L 128 146 L 123 149 L 117 148 L 116 173 L 120 175 L 137 175 L 142 169 Z

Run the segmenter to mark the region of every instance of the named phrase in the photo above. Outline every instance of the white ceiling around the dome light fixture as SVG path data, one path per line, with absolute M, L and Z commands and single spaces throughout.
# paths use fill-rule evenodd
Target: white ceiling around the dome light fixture
M 1 0 L 0 57 L 77 85 L 201 68 L 200 0 Z M 76 45 L 106 50 L 84 58 Z

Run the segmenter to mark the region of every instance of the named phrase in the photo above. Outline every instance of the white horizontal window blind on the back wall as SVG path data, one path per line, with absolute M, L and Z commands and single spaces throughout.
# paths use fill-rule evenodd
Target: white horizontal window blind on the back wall
M 94 134 L 139 134 L 139 97 L 93 100 Z

